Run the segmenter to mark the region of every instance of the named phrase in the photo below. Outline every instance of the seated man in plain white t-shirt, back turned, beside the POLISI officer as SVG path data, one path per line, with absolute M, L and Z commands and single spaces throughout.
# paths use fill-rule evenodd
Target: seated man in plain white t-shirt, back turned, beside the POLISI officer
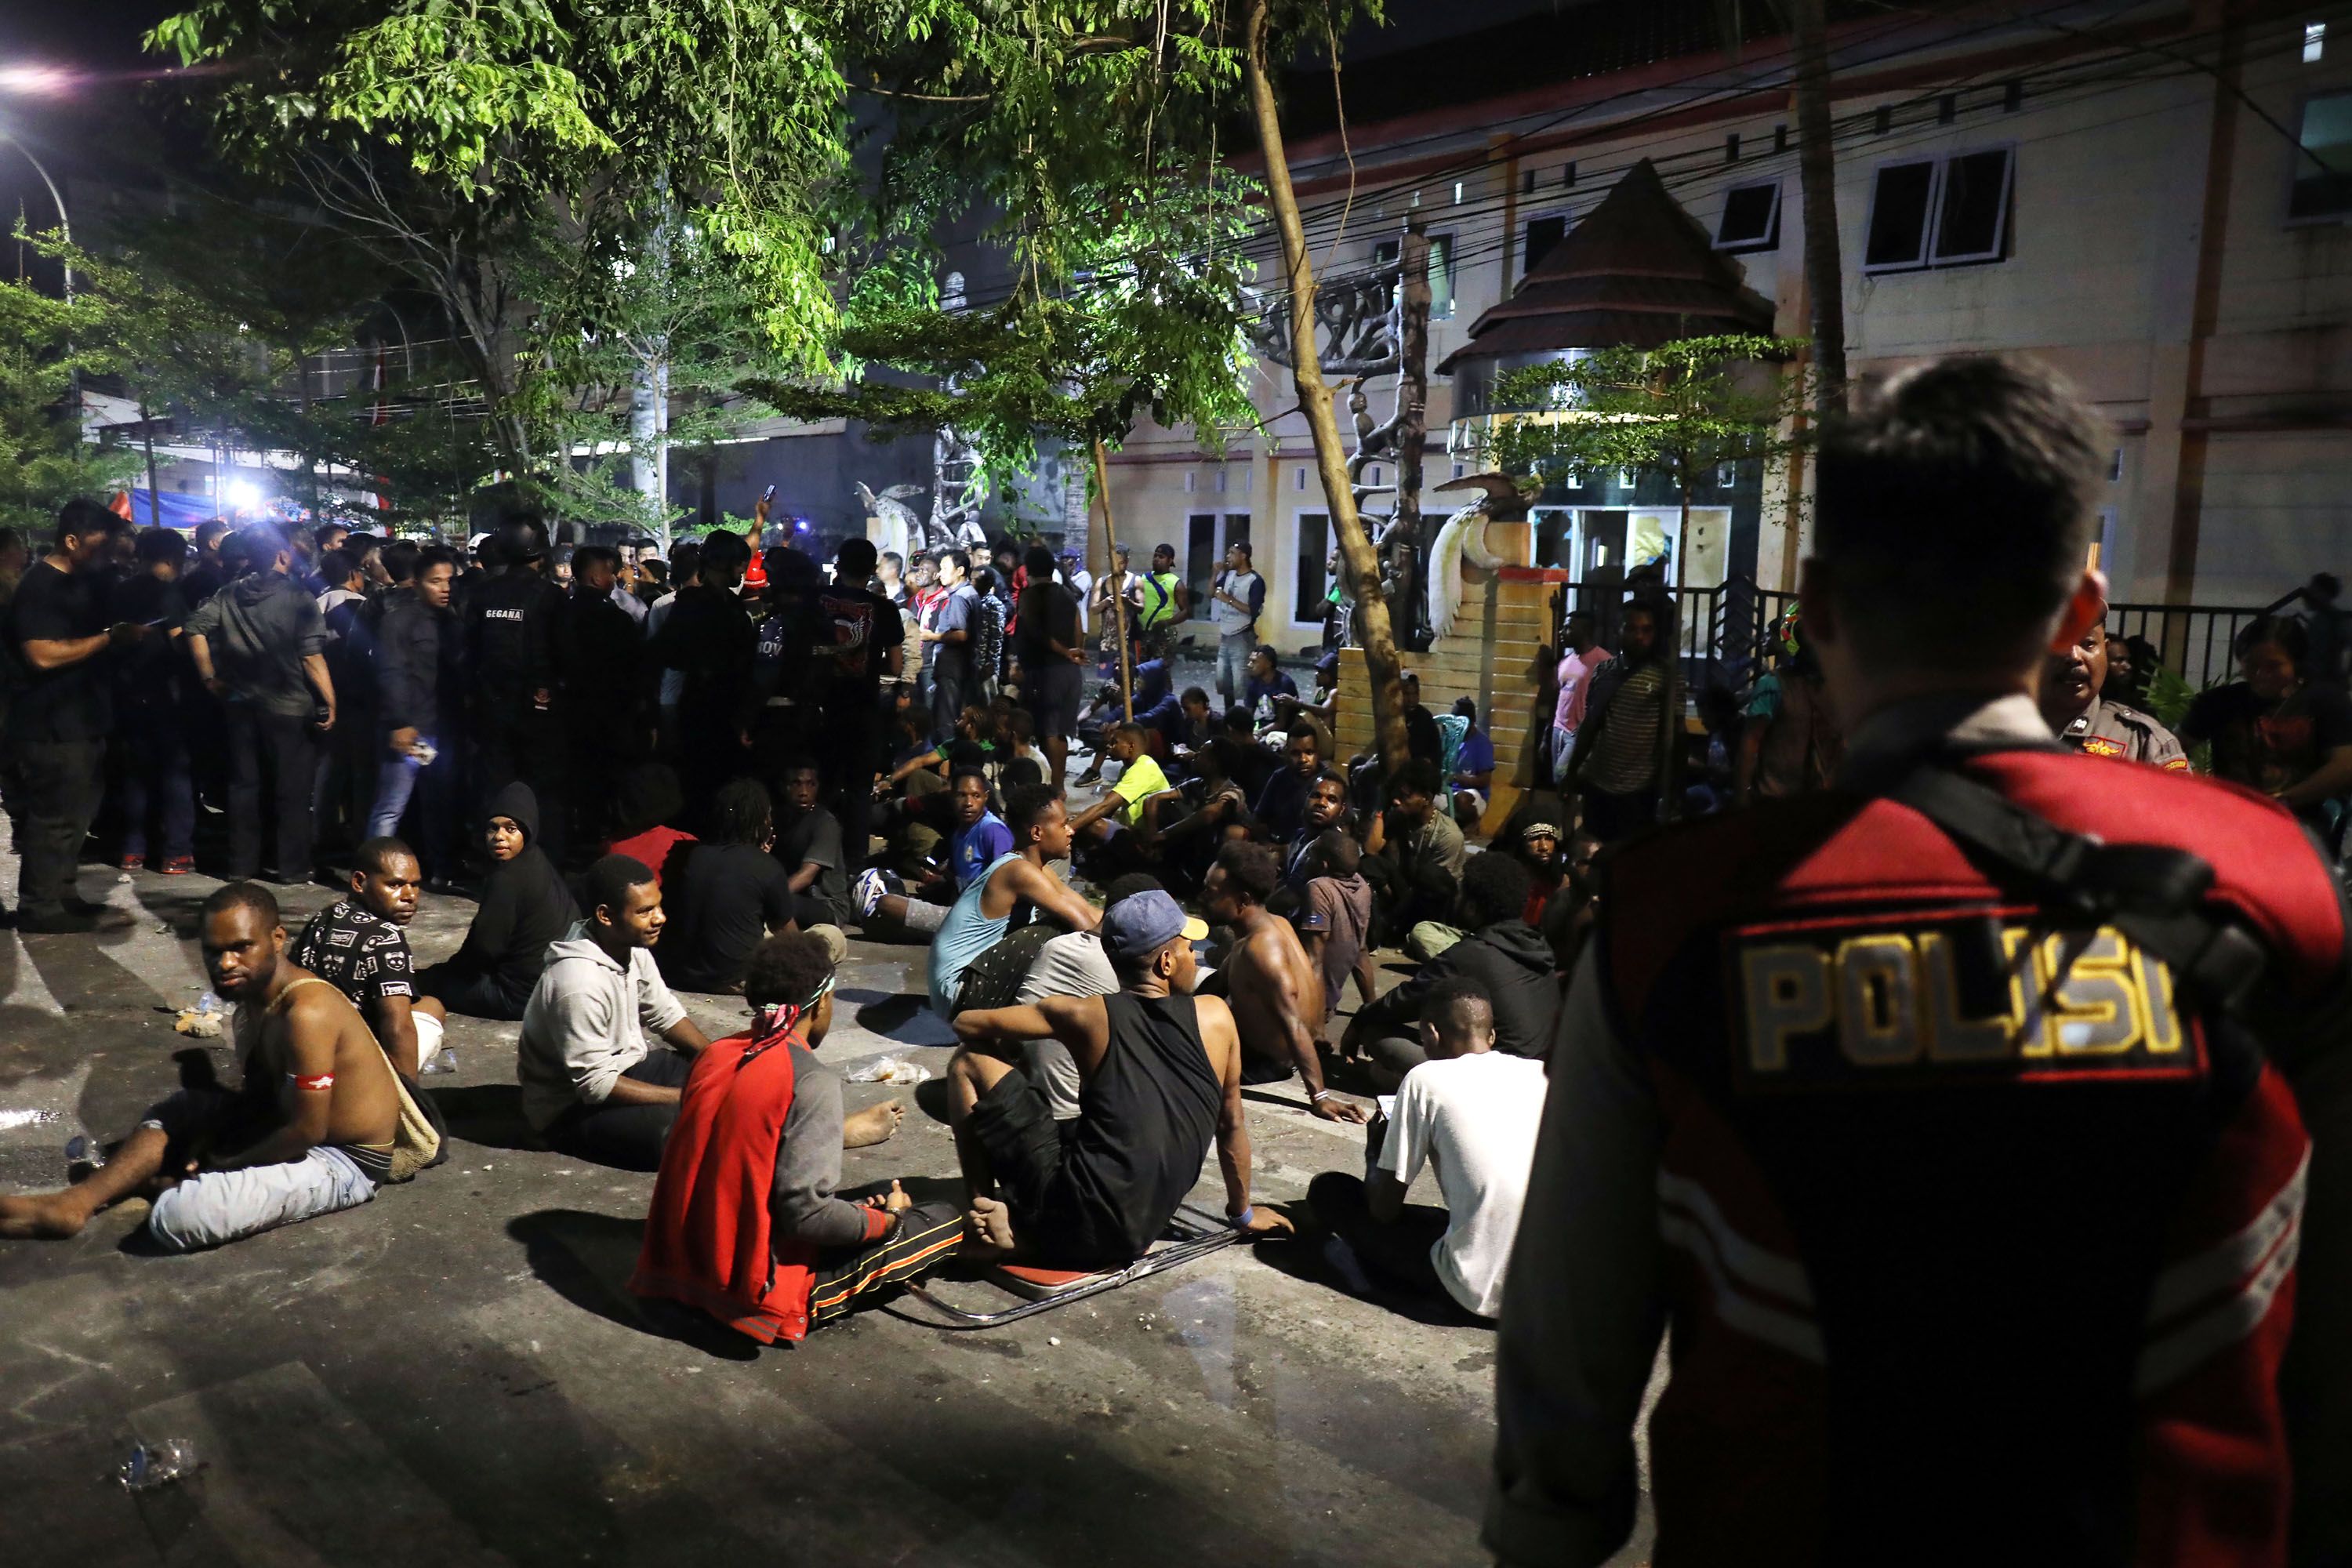
M 1383 1286 L 1501 1316 L 1543 1124 L 1543 1063 L 1494 1048 L 1494 1004 L 1468 976 L 1430 987 L 1421 1039 L 1430 1060 L 1367 1128 L 1369 1180 L 1324 1171 L 1308 1204 Z M 1423 1164 L 1437 1166 L 1444 1208 L 1404 1201 Z

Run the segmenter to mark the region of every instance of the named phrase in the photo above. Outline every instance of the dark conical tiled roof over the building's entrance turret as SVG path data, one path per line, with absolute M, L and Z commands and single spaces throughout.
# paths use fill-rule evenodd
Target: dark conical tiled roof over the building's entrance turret
M 1644 158 L 1618 179 L 1510 299 L 1470 324 L 1439 362 L 1562 348 L 1656 348 L 1715 331 L 1771 331 L 1773 303 L 1748 287 Z

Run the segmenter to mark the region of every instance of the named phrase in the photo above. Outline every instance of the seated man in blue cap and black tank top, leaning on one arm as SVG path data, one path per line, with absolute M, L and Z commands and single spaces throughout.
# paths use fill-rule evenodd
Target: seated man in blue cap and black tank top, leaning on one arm
M 1192 1192 L 1211 1135 L 1232 1225 L 1291 1229 L 1249 1204 L 1242 1039 L 1223 1001 L 1185 994 L 1200 933 L 1167 893 L 1122 898 L 1103 914 L 1103 945 L 1124 990 L 955 1018 L 964 1048 L 948 1063 L 948 1110 L 971 1187 L 967 1253 L 1063 1269 L 1134 1262 Z M 1044 1088 L 1014 1065 L 1044 1034 L 1077 1063 L 1075 1121 L 1056 1124 Z

